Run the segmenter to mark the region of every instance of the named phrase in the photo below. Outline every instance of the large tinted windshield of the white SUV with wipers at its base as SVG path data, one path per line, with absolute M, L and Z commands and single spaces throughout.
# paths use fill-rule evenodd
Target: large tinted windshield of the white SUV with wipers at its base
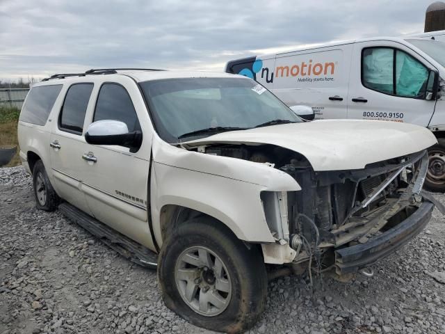
M 248 78 L 162 79 L 140 86 L 156 130 L 168 143 L 269 122 L 302 122 L 275 95 Z

